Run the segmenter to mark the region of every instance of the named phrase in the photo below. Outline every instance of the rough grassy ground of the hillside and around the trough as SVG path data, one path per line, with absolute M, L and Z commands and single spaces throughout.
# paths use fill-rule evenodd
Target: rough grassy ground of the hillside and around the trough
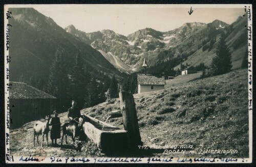
M 135 94 L 141 140 L 148 147 L 193 146 L 184 154 L 153 152 L 152 156 L 174 157 L 240 157 L 249 153 L 249 118 L 246 70 L 169 85 L 168 89 Z M 120 109 L 119 99 L 81 110 L 81 114 L 106 121 L 109 112 Z M 67 113 L 59 115 L 67 122 Z M 11 130 L 10 148 L 13 155 L 33 155 L 40 146 L 33 147 L 33 124 Z M 123 128 L 122 118 L 110 118 L 107 123 Z M 40 138 L 40 137 L 39 137 Z M 50 137 L 49 137 L 50 138 Z M 58 141 L 60 144 L 60 141 Z M 49 142 L 51 143 L 51 142 Z M 71 137 L 69 137 L 71 143 Z M 66 145 L 66 144 L 65 144 Z M 84 148 L 94 148 L 85 143 Z M 89 148 L 89 149 L 90 149 Z M 65 148 L 42 148 L 47 156 L 108 156 L 97 151 L 76 152 Z M 236 153 L 206 153 L 204 150 L 237 150 Z M 85 149 L 86 150 L 86 149 Z M 200 154 L 202 153 L 202 154 Z

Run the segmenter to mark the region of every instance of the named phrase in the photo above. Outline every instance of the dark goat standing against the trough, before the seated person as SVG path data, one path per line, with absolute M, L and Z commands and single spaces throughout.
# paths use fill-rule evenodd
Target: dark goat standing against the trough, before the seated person
M 72 124 L 72 123 L 67 122 L 61 126 L 62 127 L 61 146 L 62 146 L 62 141 L 63 141 L 64 136 L 66 138 L 66 144 L 68 144 L 67 136 L 71 136 L 72 142 L 73 142 L 72 144 L 74 145 L 75 137 L 78 136 L 79 130 L 82 127 L 83 123 L 84 123 L 84 119 L 81 118 L 80 122 L 78 124 Z

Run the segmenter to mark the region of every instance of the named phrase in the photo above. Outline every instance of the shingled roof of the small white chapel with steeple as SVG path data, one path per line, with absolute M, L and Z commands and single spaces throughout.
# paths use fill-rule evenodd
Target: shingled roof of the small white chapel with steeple
M 137 74 L 138 85 L 165 85 L 164 77 L 153 74 Z

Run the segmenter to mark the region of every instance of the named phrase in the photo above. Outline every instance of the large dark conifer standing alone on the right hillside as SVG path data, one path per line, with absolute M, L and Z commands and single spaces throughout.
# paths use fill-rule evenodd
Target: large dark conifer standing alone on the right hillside
M 231 70 L 231 54 L 223 36 L 220 37 L 216 47 L 216 57 L 212 59 L 212 75 L 220 75 Z

